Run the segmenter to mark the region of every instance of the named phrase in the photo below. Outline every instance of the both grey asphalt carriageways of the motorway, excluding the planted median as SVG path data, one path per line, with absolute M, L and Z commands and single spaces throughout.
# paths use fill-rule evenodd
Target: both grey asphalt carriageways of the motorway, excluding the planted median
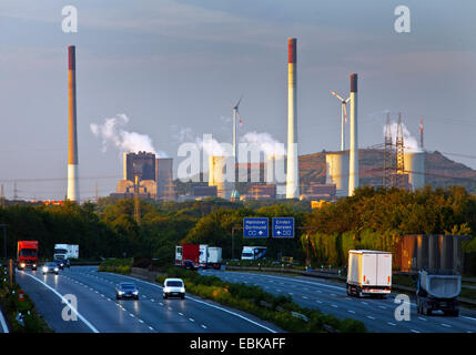
M 476 333 L 475 311 L 462 308 L 458 317 L 424 316 L 416 313 L 414 300 L 409 304 L 409 321 L 398 321 L 395 310 L 401 304 L 395 303 L 395 293 L 385 300 L 356 298 L 347 296 L 342 283 L 327 280 L 214 270 L 201 273 L 260 286 L 271 294 L 290 295 L 302 306 L 362 321 L 371 332 Z M 123 281 L 136 283 L 140 301 L 115 300 L 114 286 Z M 59 275 L 18 272 L 17 282 L 50 327 L 59 333 L 282 332 L 252 315 L 192 295 L 183 301 L 163 300 L 156 283 L 101 273 L 95 266 L 73 266 Z M 70 300 L 73 303 L 67 306 Z

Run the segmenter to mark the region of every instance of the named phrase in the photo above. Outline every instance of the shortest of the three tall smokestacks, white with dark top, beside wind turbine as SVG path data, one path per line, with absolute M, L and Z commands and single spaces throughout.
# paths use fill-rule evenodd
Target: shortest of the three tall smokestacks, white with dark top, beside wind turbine
M 358 130 L 357 130 L 357 74 L 351 74 L 351 154 L 348 164 L 348 195 L 358 187 Z

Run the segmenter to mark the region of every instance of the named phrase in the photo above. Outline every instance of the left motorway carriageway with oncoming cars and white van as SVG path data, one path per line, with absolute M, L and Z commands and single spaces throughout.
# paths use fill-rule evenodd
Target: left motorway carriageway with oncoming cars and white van
M 140 300 L 115 300 L 115 285 L 133 281 Z M 278 327 L 240 311 L 186 295 L 162 298 L 159 284 L 72 266 L 59 275 L 17 272 L 17 282 L 58 333 L 276 333 Z M 74 303 L 67 307 L 74 295 Z M 64 310 L 65 308 L 65 310 Z M 63 320 L 67 315 L 67 320 Z M 75 317 L 77 321 L 68 321 Z

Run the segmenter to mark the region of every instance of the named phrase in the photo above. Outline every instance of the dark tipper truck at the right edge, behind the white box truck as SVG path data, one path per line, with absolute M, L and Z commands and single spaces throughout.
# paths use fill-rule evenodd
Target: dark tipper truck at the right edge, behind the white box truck
M 418 314 L 432 315 L 443 311 L 445 315 L 459 315 L 458 295 L 462 292 L 462 275 L 453 271 L 421 270 L 416 286 Z

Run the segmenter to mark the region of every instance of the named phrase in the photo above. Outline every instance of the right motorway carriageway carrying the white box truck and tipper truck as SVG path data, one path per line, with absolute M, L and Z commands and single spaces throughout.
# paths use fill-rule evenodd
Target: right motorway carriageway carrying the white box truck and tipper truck
M 458 317 L 436 312 L 432 316 L 424 316 L 417 314 L 415 300 L 411 300 L 411 320 L 397 321 L 395 310 L 399 304 L 395 303 L 396 293 L 385 300 L 357 298 L 347 296 L 345 284 L 322 278 L 215 270 L 204 270 L 201 273 L 233 283 L 260 286 L 274 295 L 290 295 L 301 306 L 318 308 L 340 318 L 362 321 L 371 332 L 476 333 L 475 311 L 462 308 Z

